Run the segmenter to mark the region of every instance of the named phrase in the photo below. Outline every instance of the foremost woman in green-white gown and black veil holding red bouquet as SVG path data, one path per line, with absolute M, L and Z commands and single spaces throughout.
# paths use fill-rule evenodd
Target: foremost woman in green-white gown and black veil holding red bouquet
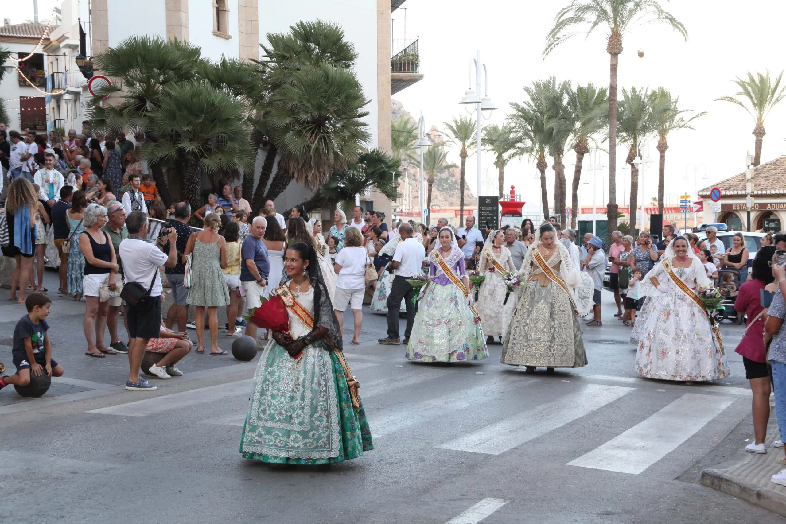
M 283 299 L 289 333 L 273 332 L 259 357 L 241 435 L 247 459 L 329 464 L 373 449 L 358 383 L 343 360 L 341 329 L 317 254 L 296 242 L 286 251 Z

